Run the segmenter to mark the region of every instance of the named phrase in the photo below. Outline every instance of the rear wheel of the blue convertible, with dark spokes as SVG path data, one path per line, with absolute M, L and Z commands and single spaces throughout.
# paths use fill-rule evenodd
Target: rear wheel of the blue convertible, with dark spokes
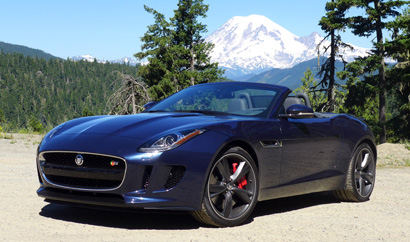
M 354 152 L 346 177 L 346 188 L 334 191 L 337 199 L 344 202 L 369 200 L 376 180 L 376 159 L 371 147 L 363 143 Z

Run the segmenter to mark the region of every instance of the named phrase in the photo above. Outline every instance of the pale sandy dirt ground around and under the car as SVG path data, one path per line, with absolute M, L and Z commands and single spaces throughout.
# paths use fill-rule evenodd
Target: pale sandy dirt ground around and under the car
M 212 228 L 189 214 L 118 213 L 45 203 L 37 197 L 40 136 L 0 139 L 0 241 L 409 241 L 410 159 L 400 145 L 379 147 L 373 195 L 340 203 L 324 194 L 260 202 L 249 221 Z M 408 161 L 407 161 L 408 162 Z

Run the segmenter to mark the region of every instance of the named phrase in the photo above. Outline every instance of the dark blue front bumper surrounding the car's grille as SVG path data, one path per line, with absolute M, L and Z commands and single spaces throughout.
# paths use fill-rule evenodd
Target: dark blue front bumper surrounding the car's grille
M 138 153 L 137 148 L 141 144 L 124 137 L 81 135 L 57 136 L 54 139 L 55 141 L 49 141 L 47 145 L 40 147 L 39 154 L 61 150 L 78 154 L 102 154 L 104 151 L 105 155 L 125 160 L 126 171 L 121 185 L 113 189 L 67 186 L 50 182 L 37 159 L 40 180 L 37 194 L 47 202 L 136 209 L 198 210 L 210 163 L 226 136 L 205 132 L 180 147 L 163 153 Z M 183 167 L 184 172 L 182 177 L 170 182 L 175 167 Z

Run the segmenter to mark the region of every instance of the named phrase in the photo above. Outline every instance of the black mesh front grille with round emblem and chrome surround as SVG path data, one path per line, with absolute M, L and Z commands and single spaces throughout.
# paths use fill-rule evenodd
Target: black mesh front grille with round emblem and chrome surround
M 83 163 L 76 164 L 82 156 Z M 126 163 L 119 157 L 77 152 L 40 154 L 45 178 L 52 184 L 81 189 L 114 189 L 121 185 Z

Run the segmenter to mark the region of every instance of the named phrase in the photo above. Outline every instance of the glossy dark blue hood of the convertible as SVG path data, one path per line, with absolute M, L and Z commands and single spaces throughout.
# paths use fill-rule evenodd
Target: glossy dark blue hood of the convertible
M 234 116 L 209 116 L 200 113 L 142 113 L 75 119 L 67 122 L 58 135 L 98 134 L 139 140 L 151 139 L 164 132 L 204 128 L 235 120 Z

